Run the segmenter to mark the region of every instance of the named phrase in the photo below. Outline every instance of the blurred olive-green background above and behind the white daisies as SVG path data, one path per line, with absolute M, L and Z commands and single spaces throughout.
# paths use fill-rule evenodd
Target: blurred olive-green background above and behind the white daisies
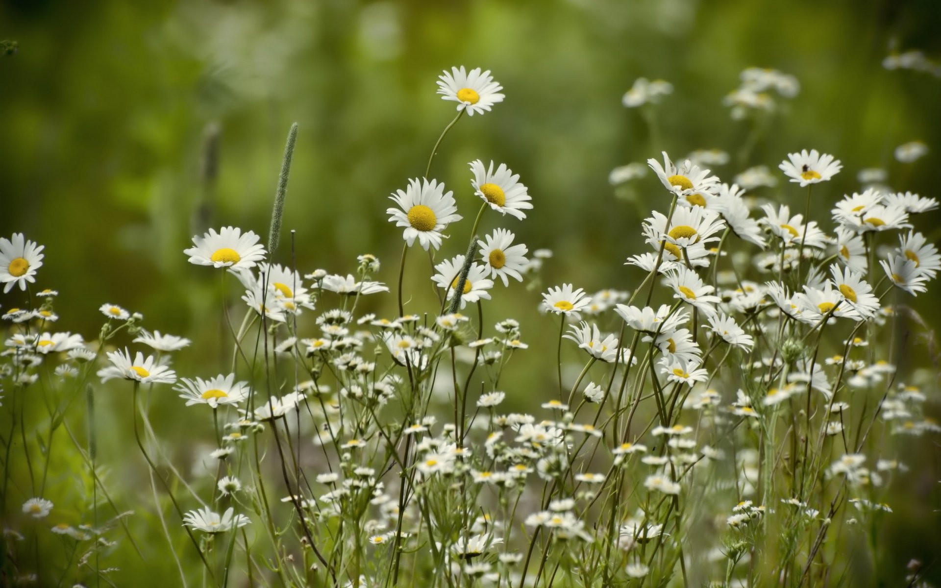
M 939 29 L 937 0 L 6 0 L 0 39 L 19 51 L 0 58 L 0 234 L 22 230 L 46 246 L 39 285 L 61 293 L 58 329 L 94 339 L 97 308 L 120 304 L 144 313 L 148 328 L 192 337 L 197 348 L 178 369 L 193 373 L 217 349 L 218 284 L 183 248 L 210 226 L 266 239 L 295 120 L 284 228 L 297 231 L 298 268 L 352 272 L 372 252 L 394 290 L 401 230 L 387 222 L 387 197 L 422 175 L 455 114 L 435 93 L 437 76 L 463 64 L 491 70 L 506 99 L 461 119 L 439 151 L 431 175 L 455 190 L 465 216 L 439 257 L 463 252 L 478 208 L 468 162 L 493 159 L 521 175 L 534 210 L 522 222 L 487 215 L 482 232 L 499 224 L 531 250 L 551 248 L 549 284 L 628 290 L 643 278 L 621 264 L 640 251 L 640 221 L 668 202 L 649 174 L 633 198 L 615 198 L 608 174 L 661 150 L 729 151 L 732 161 L 713 167 L 728 182 L 767 165 L 779 183 L 759 193 L 798 208 L 804 192 L 777 163 L 788 151 L 834 153 L 843 171 L 814 199 L 826 230 L 863 167 L 885 167 L 895 189 L 939 196 L 934 153 L 902 165 L 892 150 L 914 139 L 939 149 L 941 79 L 881 65 L 895 50 L 941 56 Z M 778 101 L 755 150 L 737 161 L 753 123 L 731 119 L 722 99 L 749 66 L 793 74 L 801 92 Z M 656 109 L 656 142 L 640 111 L 621 104 L 640 76 L 675 87 Z M 935 241 L 938 219 L 917 221 Z M 290 262 L 286 233 L 281 243 L 274 261 Z M 424 257 L 412 252 L 408 278 L 429 300 Z M 916 302 L 936 322 L 935 286 Z M 537 294 L 515 284 L 494 299 L 503 314 L 488 324 L 515 316 L 524 341 L 554 338 L 555 324 L 534 310 Z M 391 316 L 394 294 L 366 308 Z M 507 389 L 525 386 L 541 360 L 520 355 Z M 892 533 L 895 561 L 936 532 L 925 522 Z

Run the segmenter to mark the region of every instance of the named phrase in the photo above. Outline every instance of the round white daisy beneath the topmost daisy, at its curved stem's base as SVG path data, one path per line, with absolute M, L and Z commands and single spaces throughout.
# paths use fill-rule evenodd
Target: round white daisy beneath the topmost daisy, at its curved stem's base
M 399 208 L 389 208 L 386 214 L 396 227 L 405 227 L 402 238 L 412 246 L 417 238 L 425 250 L 441 246 L 441 231 L 461 219 L 457 215 L 454 192 L 444 192 L 444 184 L 437 180 L 409 180 L 405 191 L 396 190 L 391 197 Z

